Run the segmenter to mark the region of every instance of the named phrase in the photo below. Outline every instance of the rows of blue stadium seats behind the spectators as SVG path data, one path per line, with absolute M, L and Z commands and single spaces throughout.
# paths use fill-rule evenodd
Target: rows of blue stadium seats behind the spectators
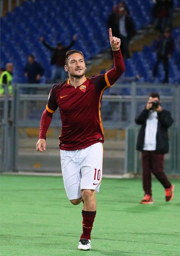
M 51 45 L 61 41 L 64 45 L 70 43 L 73 34 L 77 40 L 73 48 L 85 54 L 86 61 L 91 60 L 102 51 L 109 49 L 107 17 L 113 4 L 119 1 L 96 0 L 52 0 L 24 1 L 20 7 L 1 17 L 1 67 L 11 61 L 14 63 L 14 81 L 25 83 L 23 67 L 28 54 L 34 54 L 37 61 L 43 64 L 46 78 L 50 77 L 50 52 L 39 42 L 39 37 Z M 153 2 L 149 0 L 126 0 L 132 13 L 136 30 L 143 30 L 151 25 L 151 10 Z M 179 7 L 179 1 L 174 1 L 174 9 Z M 180 28 L 173 29 L 173 37 L 178 40 Z M 140 73 L 144 81 L 149 82 L 155 61 L 152 42 L 144 46 L 141 52 L 133 52 L 132 57 L 125 60 L 125 76 Z M 177 49 L 170 60 L 170 83 L 180 83 L 180 75 L 176 64 Z M 157 79 L 162 80 L 163 67 L 160 65 Z

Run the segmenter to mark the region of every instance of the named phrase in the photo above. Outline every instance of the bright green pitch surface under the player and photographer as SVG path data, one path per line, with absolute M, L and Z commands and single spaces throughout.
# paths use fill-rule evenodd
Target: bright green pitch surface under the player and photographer
M 140 179 L 103 179 L 91 251 L 78 251 L 82 205 L 59 176 L 1 175 L 1 256 L 179 256 L 180 181 L 174 199 L 153 180 L 154 205 L 141 205 Z

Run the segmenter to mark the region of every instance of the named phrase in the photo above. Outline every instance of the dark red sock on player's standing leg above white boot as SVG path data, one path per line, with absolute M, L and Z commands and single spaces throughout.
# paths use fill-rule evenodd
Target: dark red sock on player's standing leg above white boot
M 82 225 L 83 233 L 80 236 L 80 239 L 91 239 L 91 230 L 94 223 L 96 211 L 83 211 L 82 210 Z

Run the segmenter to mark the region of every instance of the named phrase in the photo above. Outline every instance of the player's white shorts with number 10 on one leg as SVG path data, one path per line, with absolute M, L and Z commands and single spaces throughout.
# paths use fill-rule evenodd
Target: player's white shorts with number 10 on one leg
M 70 200 L 81 198 L 82 189 L 99 192 L 103 168 L 103 144 L 88 148 L 60 150 L 61 169 L 65 191 Z

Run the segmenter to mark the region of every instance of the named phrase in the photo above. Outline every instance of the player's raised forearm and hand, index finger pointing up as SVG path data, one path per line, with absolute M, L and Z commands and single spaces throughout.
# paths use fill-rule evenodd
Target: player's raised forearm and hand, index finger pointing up
M 125 72 L 124 60 L 121 54 L 121 39 L 112 36 L 112 30 L 109 28 L 110 46 L 113 51 L 114 67 L 107 72 L 107 78 L 112 86 L 118 78 Z

